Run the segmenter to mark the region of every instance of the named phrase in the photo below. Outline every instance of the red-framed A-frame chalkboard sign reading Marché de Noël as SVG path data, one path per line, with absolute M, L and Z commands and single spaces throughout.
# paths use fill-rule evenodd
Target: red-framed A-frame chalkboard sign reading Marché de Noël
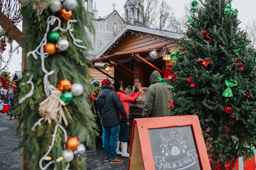
M 134 119 L 128 170 L 210 170 L 198 116 Z

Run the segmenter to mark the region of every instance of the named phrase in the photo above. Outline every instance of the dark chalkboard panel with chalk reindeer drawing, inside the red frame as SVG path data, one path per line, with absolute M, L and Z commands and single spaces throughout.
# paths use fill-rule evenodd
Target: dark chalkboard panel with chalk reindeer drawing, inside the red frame
M 148 129 L 156 170 L 201 170 L 191 126 Z

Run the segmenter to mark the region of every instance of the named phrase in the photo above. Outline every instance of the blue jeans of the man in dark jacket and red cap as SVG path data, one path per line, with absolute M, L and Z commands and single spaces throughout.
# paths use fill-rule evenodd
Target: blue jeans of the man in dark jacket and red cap
M 112 127 L 103 127 L 104 128 L 104 155 L 105 157 L 109 157 L 109 145 L 111 146 L 110 150 L 110 159 L 116 158 L 116 146 L 117 140 L 119 137 L 120 126 L 112 126 Z M 110 140 L 111 138 L 111 140 Z

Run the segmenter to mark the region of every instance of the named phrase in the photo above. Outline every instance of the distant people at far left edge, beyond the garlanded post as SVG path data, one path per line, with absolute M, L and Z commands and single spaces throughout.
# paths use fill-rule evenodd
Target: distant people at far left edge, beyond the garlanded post
M 0 99 L 0 111 L 17 119 L 17 116 L 14 116 L 14 106 L 16 104 L 17 91 L 15 88 L 9 88 L 8 90 L 1 88 L 0 89 L 1 99 Z

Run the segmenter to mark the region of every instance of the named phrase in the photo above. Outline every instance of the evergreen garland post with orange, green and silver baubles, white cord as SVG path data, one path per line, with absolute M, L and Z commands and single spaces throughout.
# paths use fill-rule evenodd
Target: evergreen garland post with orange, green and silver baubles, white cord
M 93 144 L 98 135 L 84 93 L 91 89 L 85 28 L 94 27 L 83 3 L 26 0 L 21 8 L 27 63 L 15 111 L 21 116 L 19 147 L 30 170 L 85 169 L 83 143 Z

